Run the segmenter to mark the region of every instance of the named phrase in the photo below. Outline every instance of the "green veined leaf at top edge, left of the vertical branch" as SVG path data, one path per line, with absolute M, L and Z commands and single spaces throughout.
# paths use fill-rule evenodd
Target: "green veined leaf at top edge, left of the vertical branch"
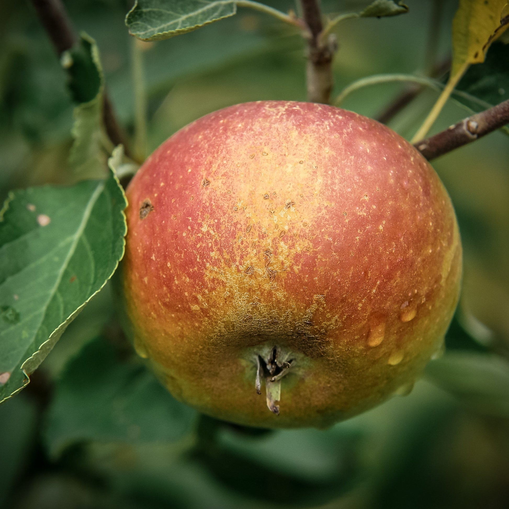
M 136 0 L 126 16 L 131 35 L 143 41 L 169 39 L 237 12 L 234 0 Z

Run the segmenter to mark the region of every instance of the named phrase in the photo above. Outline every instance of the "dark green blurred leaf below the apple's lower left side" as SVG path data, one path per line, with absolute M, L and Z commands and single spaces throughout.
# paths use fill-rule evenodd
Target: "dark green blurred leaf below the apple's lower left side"
M 52 455 L 75 442 L 172 442 L 193 430 L 197 412 L 179 403 L 134 355 L 121 360 L 99 337 L 56 384 L 45 440 Z

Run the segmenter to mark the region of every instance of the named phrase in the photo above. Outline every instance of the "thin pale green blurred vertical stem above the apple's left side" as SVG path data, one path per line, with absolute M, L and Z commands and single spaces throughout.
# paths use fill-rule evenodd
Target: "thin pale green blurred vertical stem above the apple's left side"
M 134 93 L 134 158 L 143 162 L 147 155 L 147 95 L 143 70 L 143 48 L 146 44 L 131 40 L 131 78 Z

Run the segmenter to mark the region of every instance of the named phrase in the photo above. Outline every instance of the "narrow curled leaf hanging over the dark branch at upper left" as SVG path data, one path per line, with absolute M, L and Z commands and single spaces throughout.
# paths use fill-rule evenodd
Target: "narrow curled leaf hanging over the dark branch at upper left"
M 69 75 L 72 97 L 80 103 L 74 108 L 71 129 L 74 143 L 69 163 L 76 172 L 101 176 L 105 168 L 102 150 L 104 78 L 94 39 L 83 32 L 78 45 L 63 53 L 62 65 Z

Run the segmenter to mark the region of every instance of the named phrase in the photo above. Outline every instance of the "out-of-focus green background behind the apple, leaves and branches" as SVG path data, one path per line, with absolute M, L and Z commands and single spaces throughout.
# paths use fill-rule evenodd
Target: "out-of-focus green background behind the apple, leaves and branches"
M 291 0 L 266 3 L 295 9 Z M 132 40 L 124 25 L 131 2 L 65 4 L 76 30 L 96 39 L 107 89 L 132 136 Z M 340 25 L 335 94 L 367 75 L 423 70 L 433 0 L 407 4 L 403 16 Z M 454 0 L 443 4 L 437 61 L 450 53 L 457 7 Z M 322 2 L 326 13 L 365 5 Z M 201 30 L 139 45 L 149 153 L 218 108 L 306 97 L 301 37 L 254 11 L 239 9 Z M 403 88 L 364 88 L 343 106 L 376 118 Z M 421 93 L 390 126 L 411 137 L 436 97 Z M 1 199 L 15 187 L 74 182 L 68 165 L 74 105 L 26 0 L 0 3 L 0 104 Z M 434 131 L 465 115 L 449 101 Z M 267 432 L 196 416 L 172 407 L 174 400 L 132 356 L 107 286 L 29 387 L 0 407 L 0 506 L 509 507 L 508 142 L 495 132 L 433 162 L 460 222 L 463 293 L 445 361 L 409 395 L 325 431 Z M 136 394 L 144 394 L 148 410 Z

